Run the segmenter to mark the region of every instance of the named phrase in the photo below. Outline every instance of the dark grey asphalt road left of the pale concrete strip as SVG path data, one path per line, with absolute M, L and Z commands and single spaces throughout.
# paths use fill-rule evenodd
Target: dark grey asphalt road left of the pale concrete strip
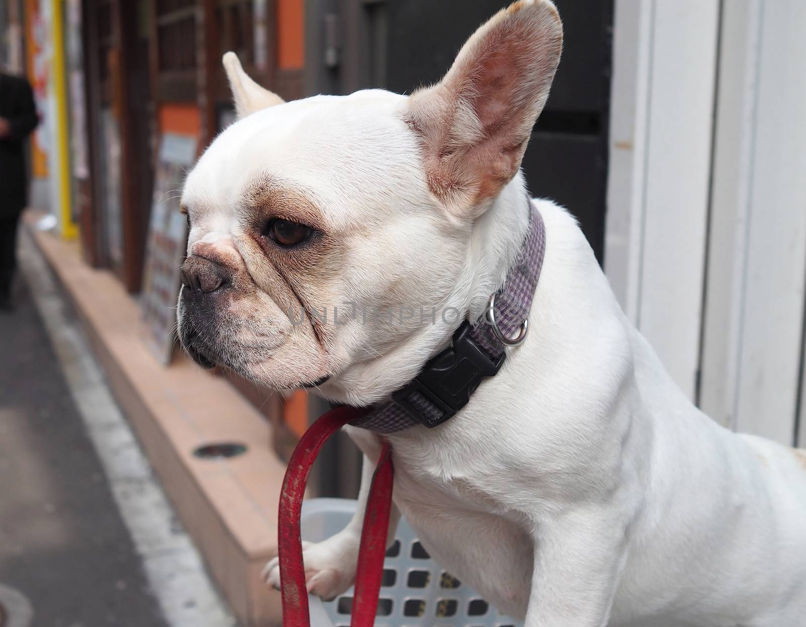
M 0 584 L 33 627 L 164 627 L 43 323 L 0 313 Z

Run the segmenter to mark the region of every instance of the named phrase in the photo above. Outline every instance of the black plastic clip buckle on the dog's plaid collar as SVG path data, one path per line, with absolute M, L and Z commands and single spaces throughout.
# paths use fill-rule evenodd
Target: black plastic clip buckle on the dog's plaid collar
M 451 347 L 434 355 L 411 383 L 392 395 L 397 405 L 429 428 L 455 416 L 470 402 L 470 395 L 481 380 L 495 375 L 504 363 L 505 353 L 492 359 L 471 337 L 470 330 L 470 322 L 463 322 L 451 340 Z M 418 397 L 430 401 L 438 409 L 438 415 L 431 408 L 429 413 L 433 415 L 423 413 Z

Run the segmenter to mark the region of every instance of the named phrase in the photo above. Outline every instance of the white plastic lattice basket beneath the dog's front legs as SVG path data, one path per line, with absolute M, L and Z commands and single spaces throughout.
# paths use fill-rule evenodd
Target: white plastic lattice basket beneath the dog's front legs
M 355 500 L 311 499 L 302 505 L 302 539 L 321 542 L 343 529 Z M 311 596 L 311 627 L 349 627 L 352 588 L 332 601 Z M 443 571 L 401 520 L 387 551 L 376 627 L 517 627 L 474 590 Z

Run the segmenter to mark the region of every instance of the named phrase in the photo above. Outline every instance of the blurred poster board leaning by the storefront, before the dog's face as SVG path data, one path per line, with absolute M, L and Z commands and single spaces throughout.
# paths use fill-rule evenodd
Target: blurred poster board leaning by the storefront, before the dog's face
M 179 211 L 179 195 L 185 172 L 195 158 L 195 137 L 176 133 L 162 136 L 148 224 L 141 307 L 147 343 L 164 365 L 171 361 L 176 339 L 180 267 L 188 237 L 187 220 Z

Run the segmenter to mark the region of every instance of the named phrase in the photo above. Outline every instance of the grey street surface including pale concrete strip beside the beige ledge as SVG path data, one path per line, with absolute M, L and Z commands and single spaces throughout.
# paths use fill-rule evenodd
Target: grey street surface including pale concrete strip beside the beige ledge
M 27 233 L 0 315 L 0 592 L 32 627 L 233 625 Z M 0 595 L 2 600 L 2 595 Z

